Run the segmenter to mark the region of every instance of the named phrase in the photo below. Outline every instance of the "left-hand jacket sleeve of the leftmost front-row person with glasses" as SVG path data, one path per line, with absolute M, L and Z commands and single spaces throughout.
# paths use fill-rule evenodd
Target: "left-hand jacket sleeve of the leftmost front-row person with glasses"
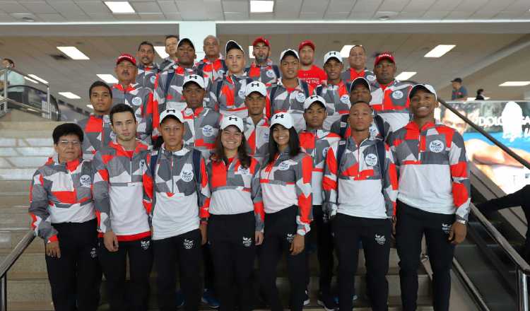
M 42 237 L 45 242 L 57 241 L 57 230 L 49 221 L 48 192 L 45 189 L 44 178 L 39 170 L 33 175 L 30 185 L 30 208 L 31 228 L 35 235 Z

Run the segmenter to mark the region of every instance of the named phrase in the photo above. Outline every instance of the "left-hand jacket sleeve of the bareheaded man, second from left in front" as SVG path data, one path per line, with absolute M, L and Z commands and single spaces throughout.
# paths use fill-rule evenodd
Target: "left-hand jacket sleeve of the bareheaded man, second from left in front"
M 110 223 L 110 197 L 109 197 L 109 172 L 104 163 L 102 154 L 96 153 L 92 161 L 93 198 L 95 204 L 95 216 L 98 218 L 98 231 L 107 233 L 112 230 Z

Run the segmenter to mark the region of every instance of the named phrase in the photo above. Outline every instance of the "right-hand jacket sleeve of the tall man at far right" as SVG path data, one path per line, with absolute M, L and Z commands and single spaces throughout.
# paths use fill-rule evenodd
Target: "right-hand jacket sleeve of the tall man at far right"
M 457 219 L 467 221 L 471 202 L 471 183 L 467 163 L 466 146 L 462 136 L 454 131 L 451 148 L 449 148 L 449 165 L 451 169 L 454 206 L 457 208 Z

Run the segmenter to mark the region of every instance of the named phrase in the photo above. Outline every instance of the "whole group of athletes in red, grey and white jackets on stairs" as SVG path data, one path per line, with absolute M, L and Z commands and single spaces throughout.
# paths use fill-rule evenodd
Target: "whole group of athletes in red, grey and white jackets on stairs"
M 232 40 L 221 56 L 206 37 L 199 62 L 187 38 L 165 46 L 160 65 L 150 42 L 121 54 L 119 83 L 90 86 L 93 114 L 54 129 L 56 152 L 33 175 L 55 310 L 96 310 L 102 275 L 110 310 L 148 310 L 153 266 L 160 310 L 253 310 L 255 283 L 266 308 L 283 310 L 282 257 L 285 307 L 302 310 L 312 240 L 325 310 L 352 310 L 361 247 L 372 310 L 388 310 L 393 241 L 403 310 L 416 310 L 423 236 L 432 304 L 449 310 L 469 168 L 462 136 L 435 121 L 432 86 L 396 81 L 390 52 L 367 70 L 362 45 L 346 70 L 336 51 L 315 66 L 310 40 L 278 65 L 264 37 L 250 66 Z

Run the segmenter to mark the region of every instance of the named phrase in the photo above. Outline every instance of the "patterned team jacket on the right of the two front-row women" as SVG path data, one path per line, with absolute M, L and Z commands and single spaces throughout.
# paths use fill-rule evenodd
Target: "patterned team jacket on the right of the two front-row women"
M 305 235 L 310 231 L 312 221 L 313 160 L 304 152 L 291 158 L 289 148 L 278 153 L 275 159 L 264 165 L 259 175 L 264 211 L 276 213 L 293 205 L 298 206 L 297 233 Z

